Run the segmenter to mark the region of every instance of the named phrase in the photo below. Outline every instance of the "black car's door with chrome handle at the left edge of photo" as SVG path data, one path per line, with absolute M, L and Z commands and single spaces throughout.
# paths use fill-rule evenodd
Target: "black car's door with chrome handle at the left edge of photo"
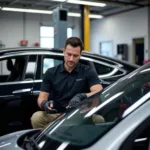
M 19 53 L 0 57 L 0 135 L 28 128 L 26 105 L 32 99 L 35 60 L 36 56 Z

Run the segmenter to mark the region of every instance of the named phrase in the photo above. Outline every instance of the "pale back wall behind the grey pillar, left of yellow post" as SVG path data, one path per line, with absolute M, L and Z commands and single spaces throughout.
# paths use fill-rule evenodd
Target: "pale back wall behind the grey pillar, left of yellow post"
M 25 18 L 25 19 L 24 19 Z M 53 26 L 52 15 L 0 11 L 0 41 L 5 47 L 19 47 L 20 40 L 28 40 L 28 46 L 40 42 L 40 26 Z M 69 17 L 68 27 L 74 28 L 74 36 L 80 37 L 80 19 Z

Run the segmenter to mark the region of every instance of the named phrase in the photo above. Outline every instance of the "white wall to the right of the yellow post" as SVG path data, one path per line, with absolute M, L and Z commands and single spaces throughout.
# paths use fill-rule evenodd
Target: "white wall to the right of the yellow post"
M 145 58 L 148 49 L 148 10 L 136 9 L 113 15 L 101 20 L 91 21 L 91 51 L 99 53 L 100 42 L 113 42 L 113 56 L 116 55 L 117 44 L 128 44 L 129 62 L 133 62 L 132 39 L 145 39 Z

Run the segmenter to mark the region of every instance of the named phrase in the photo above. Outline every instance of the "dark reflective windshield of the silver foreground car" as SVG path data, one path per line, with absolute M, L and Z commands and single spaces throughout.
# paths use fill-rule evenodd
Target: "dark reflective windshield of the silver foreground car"
M 150 65 L 137 69 L 89 97 L 79 107 L 64 113 L 55 125 L 50 125 L 44 131 L 44 136 L 39 138 L 38 143 L 48 141 L 45 144 L 50 144 L 50 141 L 55 140 L 85 148 L 96 142 L 149 99 L 149 68 Z

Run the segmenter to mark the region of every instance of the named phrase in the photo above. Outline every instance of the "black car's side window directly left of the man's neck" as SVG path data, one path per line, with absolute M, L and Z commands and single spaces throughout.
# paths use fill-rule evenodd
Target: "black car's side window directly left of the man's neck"
M 44 57 L 43 58 L 43 74 L 45 74 L 46 70 L 48 68 L 55 67 L 63 62 L 60 58 L 50 58 L 50 57 Z

